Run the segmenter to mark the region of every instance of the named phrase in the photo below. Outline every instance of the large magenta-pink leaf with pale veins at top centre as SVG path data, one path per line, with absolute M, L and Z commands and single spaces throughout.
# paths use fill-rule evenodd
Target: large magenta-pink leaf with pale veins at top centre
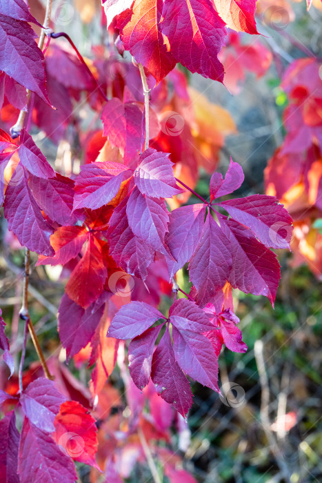
M 210 0 L 165 0 L 161 29 L 174 59 L 191 72 L 223 81 L 218 60 L 225 43 L 225 23 Z

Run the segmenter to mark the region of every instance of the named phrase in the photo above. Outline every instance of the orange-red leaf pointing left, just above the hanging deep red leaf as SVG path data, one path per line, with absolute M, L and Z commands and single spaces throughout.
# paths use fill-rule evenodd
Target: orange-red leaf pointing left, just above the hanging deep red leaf
M 65 265 L 81 253 L 89 232 L 84 226 L 60 226 L 50 237 L 53 257 L 39 256 L 37 265 Z

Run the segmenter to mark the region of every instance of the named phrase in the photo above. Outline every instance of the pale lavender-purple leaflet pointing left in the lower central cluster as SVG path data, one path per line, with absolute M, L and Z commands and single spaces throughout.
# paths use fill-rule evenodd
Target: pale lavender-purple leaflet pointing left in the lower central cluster
M 134 339 L 141 335 L 154 322 L 165 317 L 145 302 L 130 302 L 123 305 L 112 319 L 108 329 L 108 337 L 115 339 Z

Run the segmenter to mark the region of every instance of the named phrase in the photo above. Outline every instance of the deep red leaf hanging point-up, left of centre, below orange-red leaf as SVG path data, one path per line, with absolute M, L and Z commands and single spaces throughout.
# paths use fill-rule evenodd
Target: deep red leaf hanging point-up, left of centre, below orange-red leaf
M 66 293 L 83 308 L 88 308 L 103 292 L 108 270 L 104 263 L 101 244 L 90 233 L 85 253 L 72 270 Z

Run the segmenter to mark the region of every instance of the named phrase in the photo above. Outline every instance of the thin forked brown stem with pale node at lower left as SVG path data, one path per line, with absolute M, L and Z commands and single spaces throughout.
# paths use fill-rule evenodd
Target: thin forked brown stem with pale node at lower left
M 28 311 L 28 284 L 29 284 L 29 275 L 30 275 L 30 250 L 25 248 L 25 272 L 23 274 L 23 295 L 22 295 L 22 304 L 21 309 L 19 311 L 19 317 L 22 320 L 26 321 L 26 326 L 28 326 L 30 336 L 32 338 L 32 342 L 34 344 L 34 348 L 36 349 L 37 355 L 41 362 L 41 366 L 43 368 L 43 372 L 47 379 L 53 379 L 52 375 L 50 375 L 48 366 L 46 364 L 46 359 L 43 356 L 43 351 L 41 351 L 41 346 L 39 344 L 38 337 L 34 331 L 34 326 L 30 320 L 29 311 Z M 23 350 L 21 353 L 21 361 L 19 366 L 19 388 L 22 391 L 22 368 L 23 368 L 23 360 L 25 358 L 26 353 L 26 327 L 25 327 L 25 338 L 23 341 Z M 21 387 L 20 387 L 21 382 Z

